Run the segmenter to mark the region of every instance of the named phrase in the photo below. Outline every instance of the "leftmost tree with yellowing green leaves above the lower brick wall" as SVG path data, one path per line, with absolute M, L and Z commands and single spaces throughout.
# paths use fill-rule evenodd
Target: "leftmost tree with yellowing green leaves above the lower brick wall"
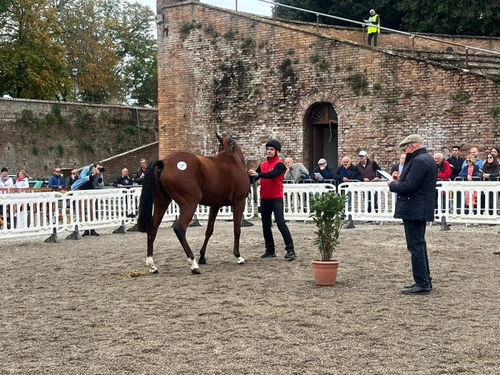
M 0 12 L 0 94 L 55 99 L 68 80 L 56 11 L 44 0 L 6 0 Z

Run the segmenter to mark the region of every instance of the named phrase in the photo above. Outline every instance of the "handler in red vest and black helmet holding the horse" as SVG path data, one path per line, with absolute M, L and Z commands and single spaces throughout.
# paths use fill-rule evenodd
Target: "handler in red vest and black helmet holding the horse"
M 281 144 L 277 139 L 270 139 L 266 143 L 267 159 L 256 170 L 249 169 L 248 174 L 255 179 L 261 179 L 261 206 L 259 212 L 262 218 L 262 231 L 264 231 L 264 242 L 266 252 L 261 258 L 275 258 L 275 246 L 273 232 L 271 230 L 271 215 L 274 214 L 276 225 L 285 242 L 285 259 L 293 261 L 297 259 L 294 251 L 294 241 L 286 226 L 284 219 L 283 204 L 283 178 L 286 166 L 281 162 L 278 152 L 281 151 Z

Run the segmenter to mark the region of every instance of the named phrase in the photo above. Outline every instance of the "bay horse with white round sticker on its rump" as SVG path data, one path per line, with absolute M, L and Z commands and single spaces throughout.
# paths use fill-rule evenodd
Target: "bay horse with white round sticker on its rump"
M 172 199 L 180 208 L 174 232 L 191 263 L 191 272 L 199 274 L 199 266 L 186 240 L 186 228 L 198 204 L 210 207 L 205 241 L 201 246 L 199 264 L 206 264 L 205 251 L 214 222 L 222 206 L 232 206 L 234 222 L 234 256 L 238 264 L 245 264 L 239 253 L 241 218 L 246 197 L 250 192 L 250 179 L 246 173 L 243 151 L 231 136 L 219 139 L 216 156 L 201 156 L 189 152 L 174 152 L 163 160 L 149 164 L 144 176 L 139 202 L 137 227 L 148 234 L 146 266 L 149 272 L 158 273 L 153 261 L 153 243 L 166 209 Z M 153 213 L 154 208 L 154 213 Z

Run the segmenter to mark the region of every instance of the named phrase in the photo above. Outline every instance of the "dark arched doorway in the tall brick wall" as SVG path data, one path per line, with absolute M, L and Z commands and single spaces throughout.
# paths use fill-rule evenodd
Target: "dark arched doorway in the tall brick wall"
M 319 159 L 328 161 L 331 169 L 339 164 L 339 118 L 331 103 L 315 103 L 309 108 L 309 170 Z

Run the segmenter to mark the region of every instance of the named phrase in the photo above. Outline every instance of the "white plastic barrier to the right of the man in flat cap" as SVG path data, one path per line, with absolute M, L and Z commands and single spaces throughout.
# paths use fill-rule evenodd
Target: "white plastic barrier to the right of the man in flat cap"
M 436 220 L 500 224 L 500 181 L 439 181 L 436 191 Z

